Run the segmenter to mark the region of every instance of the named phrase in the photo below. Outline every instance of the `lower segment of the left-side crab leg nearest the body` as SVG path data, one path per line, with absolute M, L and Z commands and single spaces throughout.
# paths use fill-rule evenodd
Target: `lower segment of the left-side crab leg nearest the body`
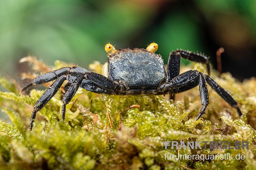
M 75 96 L 76 91 L 78 90 L 84 76 L 79 75 L 76 77 L 76 79 L 71 83 L 68 91 L 66 91 L 64 98 L 62 100 L 62 120 L 65 120 L 65 113 L 66 113 L 66 105 L 71 101 L 71 99 Z

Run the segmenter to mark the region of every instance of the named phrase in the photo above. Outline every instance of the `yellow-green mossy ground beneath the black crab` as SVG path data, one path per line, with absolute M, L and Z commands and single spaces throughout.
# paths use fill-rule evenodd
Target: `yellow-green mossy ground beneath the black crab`
M 69 64 L 56 61 L 47 67 L 34 58 L 26 58 L 36 71 L 47 72 Z M 90 65 L 101 73 L 102 65 Z M 183 67 L 197 69 L 201 64 Z M 213 72 L 214 73 L 214 72 Z M 22 74 L 34 77 L 33 74 Z M 177 95 L 176 102 L 163 96 L 107 96 L 79 89 L 67 105 L 66 120 L 61 120 L 60 91 L 37 113 L 32 131 L 28 124 L 33 105 L 44 90 L 32 89 L 29 95 L 19 93 L 15 81 L 0 78 L 7 92 L 0 92 L 0 107 L 8 115 L 0 120 L 0 167 L 7 169 L 255 169 L 256 167 L 256 80 L 236 81 L 230 74 L 212 77 L 239 103 L 239 118 L 210 87 L 206 114 L 198 121 L 200 109 L 198 87 Z M 46 84 L 49 86 L 49 84 Z M 114 116 L 122 112 L 120 117 Z M 82 113 L 81 113 L 82 112 Z M 86 123 L 86 121 L 87 123 Z M 111 123 L 112 122 L 112 123 Z M 248 141 L 249 150 L 241 149 L 171 149 L 164 141 Z M 165 153 L 244 154 L 244 160 L 165 160 Z

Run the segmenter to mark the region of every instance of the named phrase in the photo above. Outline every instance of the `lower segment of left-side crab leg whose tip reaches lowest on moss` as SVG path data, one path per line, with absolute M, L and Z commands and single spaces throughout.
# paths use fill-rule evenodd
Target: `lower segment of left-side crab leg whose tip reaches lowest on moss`
M 60 89 L 62 83 L 66 80 L 66 75 L 60 76 L 52 85 L 47 89 L 44 94 L 37 100 L 34 110 L 32 112 L 31 118 L 30 118 L 30 130 L 33 128 L 33 122 L 36 118 L 36 113 L 40 111 L 46 103 L 51 100 L 51 98 L 57 93 L 57 91 Z

